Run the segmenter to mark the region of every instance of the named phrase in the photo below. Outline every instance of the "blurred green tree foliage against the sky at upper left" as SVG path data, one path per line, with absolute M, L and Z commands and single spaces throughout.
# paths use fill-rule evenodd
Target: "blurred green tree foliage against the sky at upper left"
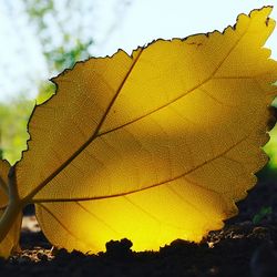
M 30 21 L 37 29 L 50 72 L 60 73 L 64 69 L 72 68 L 76 61 L 89 58 L 88 49 L 93 40 L 82 35 L 84 29 L 82 20 L 72 20 L 75 16 L 82 18 L 84 3 L 68 0 L 65 11 L 60 11 L 57 1 L 53 0 L 24 0 L 24 3 Z M 49 18 L 51 24 L 47 20 Z M 74 30 L 69 31 L 70 24 Z M 53 33 L 59 37 L 59 42 L 53 38 Z

